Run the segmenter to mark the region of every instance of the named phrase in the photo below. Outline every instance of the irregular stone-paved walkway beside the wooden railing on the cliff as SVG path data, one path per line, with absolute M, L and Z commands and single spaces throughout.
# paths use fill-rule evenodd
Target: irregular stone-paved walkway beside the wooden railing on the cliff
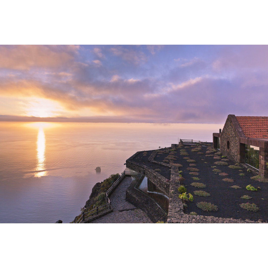
M 113 212 L 90 223 L 152 223 L 149 217 L 137 207 L 127 202 L 126 188 L 132 178 L 126 176 L 110 196 Z

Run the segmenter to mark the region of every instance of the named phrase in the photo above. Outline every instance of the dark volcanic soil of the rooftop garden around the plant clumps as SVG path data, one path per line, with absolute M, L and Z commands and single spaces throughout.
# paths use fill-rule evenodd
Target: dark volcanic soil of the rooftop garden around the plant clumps
M 191 150 L 195 147 L 197 146 L 191 147 L 190 145 L 185 145 L 182 148 L 178 148 L 176 151 L 174 151 L 177 160 L 173 162 L 180 163 L 183 165 L 183 167 L 179 168 L 179 170 L 183 171 L 182 175 L 185 178 L 185 180 L 183 181 L 183 185 L 185 185 L 185 187 L 187 188 L 187 193 L 191 193 L 193 195 L 193 202 L 187 202 L 188 207 L 187 209 L 185 209 L 185 213 L 189 214 L 190 212 L 195 211 L 198 215 L 204 216 L 215 216 L 244 220 L 250 219 L 252 221 L 258 221 L 259 219 L 262 219 L 264 222 L 268 221 L 268 183 L 262 183 L 252 180 L 250 177 L 255 176 L 255 174 L 247 172 L 247 168 L 244 168 L 243 166 L 240 166 L 240 170 L 243 171 L 239 171 L 239 169 L 229 168 L 229 165 L 235 165 L 233 161 L 227 161 L 228 166 L 221 166 L 215 164 L 214 162 L 217 161 L 224 162 L 221 161 L 221 159 L 213 158 L 214 156 L 217 156 L 214 154 L 218 152 L 218 150 L 216 152 L 206 153 L 207 147 L 202 146 L 202 150 L 199 150 L 199 152 L 203 152 L 204 154 L 198 154 L 197 152 L 191 152 Z M 186 150 L 189 155 L 180 155 L 181 149 Z M 161 169 L 161 172 L 159 173 L 167 179 L 170 179 L 169 168 L 159 164 L 151 163 L 147 160 L 152 152 L 153 151 L 148 151 L 147 155 L 143 155 L 143 152 L 141 152 L 138 155 L 139 158 L 133 160 L 136 162 L 143 163 L 151 169 Z M 159 150 L 159 152 L 161 152 L 162 154 L 157 154 L 154 160 L 162 162 L 169 154 L 164 152 L 164 150 Z M 205 155 L 207 154 L 213 156 L 206 157 Z M 196 166 L 189 166 L 189 164 L 191 163 L 187 162 L 184 157 L 189 157 L 190 159 L 196 160 L 196 162 L 193 162 L 194 164 L 196 164 Z M 214 168 L 211 168 L 211 166 L 216 166 L 216 168 L 220 169 L 222 172 L 228 173 L 228 176 L 220 176 L 218 173 L 213 172 L 212 170 Z M 190 175 L 189 171 L 187 170 L 188 167 L 198 168 L 200 170 L 198 171 L 199 175 Z M 239 173 L 244 173 L 245 176 L 240 176 Z M 198 177 L 200 178 L 200 180 L 193 180 L 192 177 Z M 223 178 L 231 178 L 234 181 L 231 183 L 225 182 L 222 180 Z M 192 182 L 206 184 L 206 188 L 193 187 L 190 185 Z M 260 187 L 261 189 L 258 189 L 258 191 L 248 191 L 246 189 L 246 186 L 249 184 L 251 184 L 255 188 Z M 242 188 L 230 188 L 230 186 L 232 185 L 238 185 Z M 204 197 L 194 195 L 193 192 L 198 190 L 206 191 L 210 193 L 210 196 Z M 252 198 L 249 200 L 241 199 L 240 197 L 243 195 L 249 195 Z M 196 203 L 201 201 L 210 202 L 218 206 L 218 210 L 207 212 L 203 211 L 202 209 L 199 209 L 196 206 Z M 239 204 L 247 202 L 255 203 L 260 210 L 256 212 L 247 211 L 239 206 Z

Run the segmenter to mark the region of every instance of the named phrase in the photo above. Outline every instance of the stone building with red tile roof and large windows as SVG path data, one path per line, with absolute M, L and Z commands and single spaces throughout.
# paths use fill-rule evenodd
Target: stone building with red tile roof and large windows
M 229 114 L 222 131 L 213 133 L 213 148 L 268 178 L 268 117 Z

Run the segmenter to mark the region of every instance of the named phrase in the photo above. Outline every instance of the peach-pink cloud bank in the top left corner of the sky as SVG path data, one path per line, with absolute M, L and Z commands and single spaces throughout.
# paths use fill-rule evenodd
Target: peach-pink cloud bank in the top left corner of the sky
M 78 50 L 79 46 L 0 46 L 0 68 L 59 68 L 73 62 Z

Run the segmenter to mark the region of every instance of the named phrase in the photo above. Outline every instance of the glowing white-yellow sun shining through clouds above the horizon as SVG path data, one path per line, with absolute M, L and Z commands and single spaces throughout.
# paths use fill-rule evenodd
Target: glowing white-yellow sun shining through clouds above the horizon
M 25 109 L 25 115 L 35 117 L 55 117 L 60 115 L 58 111 L 61 109 L 62 108 L 55 101 L 35 98 L 28 102 L 27 108 Z

